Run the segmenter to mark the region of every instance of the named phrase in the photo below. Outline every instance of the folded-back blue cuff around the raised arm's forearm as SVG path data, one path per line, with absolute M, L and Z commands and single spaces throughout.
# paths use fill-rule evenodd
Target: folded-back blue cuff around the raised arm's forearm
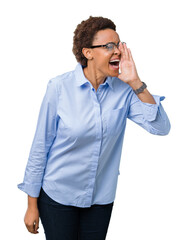
M 159 108 L 159 105 L 161 104 L 160 102 L 165 99 L 164 96 L 158 96 L 158 95 L 152 95 L 152 96 L 153 96 L 156 104 L 145 103 L 139 99 L 139 101 L 141 103 L 141 108 L 143 111 L 143 116 L 144 116 L 145 120 L 147 120 L 149 122 L 152 122 L 156 119 L 158 108 Z

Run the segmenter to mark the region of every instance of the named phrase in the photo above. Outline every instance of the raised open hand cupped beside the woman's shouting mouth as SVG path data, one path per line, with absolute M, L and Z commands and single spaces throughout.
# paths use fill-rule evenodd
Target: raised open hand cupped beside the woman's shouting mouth
M 126 43 L 119 44 L 119 50 L 121 52 L 120 70 L 121 73 L 118 78 L 127 84 L 134 84 L 134 82 L 141 82 L 134 60 L 132 58 L 130 48 L 127 48 Z

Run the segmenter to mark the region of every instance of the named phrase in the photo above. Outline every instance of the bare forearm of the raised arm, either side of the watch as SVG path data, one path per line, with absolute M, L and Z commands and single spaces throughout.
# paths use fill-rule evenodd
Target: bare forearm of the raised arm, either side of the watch
M 142 82 L 140 79 L 136 79 L 134 81 L 128 82 L 128 84 L 132 87 L 133 90 L 136 90 L 142 86 Z M 153 96 L 150 92 L 145 88 L 143 92 L 139 93 L 138 98 L 145 103 L 156 104 Z

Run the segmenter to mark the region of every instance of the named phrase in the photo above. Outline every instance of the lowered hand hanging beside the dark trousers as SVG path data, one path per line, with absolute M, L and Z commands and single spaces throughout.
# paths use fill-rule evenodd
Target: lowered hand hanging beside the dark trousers
M 27 230 L 30 233 L 38 233 L 38 228 L 39 228 L 39 211 L 37 207 L 31 208 L 28 207 L 25 217 L 24 217 L 24 222 L 26 225 Z

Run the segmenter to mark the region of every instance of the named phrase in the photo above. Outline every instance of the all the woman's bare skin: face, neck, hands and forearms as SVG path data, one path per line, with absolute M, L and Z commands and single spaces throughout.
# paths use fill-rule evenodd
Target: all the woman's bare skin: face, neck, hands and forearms
M 119 35 L 112 29 L 100 30 L 94 37 L 93 45 L 103 45 L 108 42 L 118 43 Z M 84 68 L 84 75 L 91 82 L 93 87 L 98 89 L 106 77 L 118 77 L 123 82 L 129 84 L 133 89 L 142 86 L 142 82 L 138 76 L 135 63 L 129 48 L 126 44 L 119 45 L 119 49 L 109 52 L 105 48 L 83 48 L 82 52 L 88 59 L 88 65 Z M 120 70 L 113 69 L 109 65 L 109 61 L 114 58 L 120 59 Z M 155 104 L 155 100 L 147 89 L 138 94 L 141 101 Z M 29 232 L 38 233 L 39 228 L 39 211 L 37 206 L 37 198 L 28 195 L 28 208 L 24 217 L 25 225 Z

